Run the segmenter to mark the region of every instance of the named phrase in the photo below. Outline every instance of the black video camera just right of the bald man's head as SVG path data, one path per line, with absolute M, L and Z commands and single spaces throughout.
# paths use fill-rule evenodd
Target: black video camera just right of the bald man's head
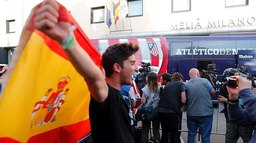
M 213 78 L 213 82 L 217 79 L 217 69 L 215 69 L 215 64 L 208 64 L 207 70 L 200 70 L 200 77 L 205 78 L 211 82 L 211 77 Z

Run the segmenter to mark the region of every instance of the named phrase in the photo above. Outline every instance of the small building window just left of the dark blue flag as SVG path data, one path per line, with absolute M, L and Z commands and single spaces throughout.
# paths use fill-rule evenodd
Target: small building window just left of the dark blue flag
M 91 24 L 104 23 L 105 7 L 91 8 Z

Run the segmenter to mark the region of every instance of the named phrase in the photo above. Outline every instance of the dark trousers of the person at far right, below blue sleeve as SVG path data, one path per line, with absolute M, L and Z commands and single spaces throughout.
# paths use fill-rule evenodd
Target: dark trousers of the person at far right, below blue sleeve
M 239 137 L 241 137 L 244 143 L 248 143 L 252 138 L 253 126 L 242 127 L 233 124 L 229 119 L 228 115 L 226 117 L 226 138 L 225 143 L 237 143 Z

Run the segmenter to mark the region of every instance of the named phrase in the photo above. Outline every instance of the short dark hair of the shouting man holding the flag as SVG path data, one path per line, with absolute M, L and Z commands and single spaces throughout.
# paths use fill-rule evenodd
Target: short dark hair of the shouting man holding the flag
M 114 63 L 123 67 L 123 62 L 137 50 L 138 45 L 133 46 L 132 43 L 121 43 L 109 46 L 102 54 L 102 66 L 105 70 L 106 77 L 111 77 L 114 73 Z

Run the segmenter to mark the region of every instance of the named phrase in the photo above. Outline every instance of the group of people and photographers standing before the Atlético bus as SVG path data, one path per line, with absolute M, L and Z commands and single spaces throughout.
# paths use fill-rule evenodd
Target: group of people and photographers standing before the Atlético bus
M 211 99 L 216 93 L 213 79 L 209 81 L 205 78 L 200 78 L 199 70 L 195 68 L 189 71 L 191 79 L 185 84 L 183 84 L 183 75 L 181 73 L 174 73 L 172 76 L 169 73 L 162 73 L 160 84 L 158 86 L 155 85 L 158 89 L 154 91 L 154 89 L 149 89 L 149 85 L 151 85 L 151 88 L 154 87 L 152 86 L 154 85 L 154 82 L 152 82 L 152 75 L 154 74 L 152 72 L 147 74 L 146 86 L 142 88 L 143 106 L 152 105 L 154 103 L 152 101 L 158 103 L 158 105 L 154 105 L 158 112 L 152 120 L 154 138 L 161 143 L 180 143 L 179 130 L 181 130 L 182 123 L 180 117 L 182 117 L 183 113 L 181 106 L 186 104 L 187 142 L 195 143 L 195 136 L 199 132 L 202 143 L 210 143 L 213 121 L 213 104 Z M 238 87 L 235 89 L 223 84 L 220 89 L 221 95 L 218 97 L 219 102 L 223 102 L 226 109 L 225 143 L 236 143 L 240 137 L 244 143 L 254 143 L 253 140 L 256 137 L 253 133 L 255 134 L 256 122 L 255 115 L 253 114 L 255 112 L 252 111 L 252 107 L 255 107 L 254 104 L 256 103 L 256 88 L 252 87 L 252 83 L 244 78 L 237 76 L 233 78 L 236 78 L 237 82 L 240 81 L 241 84 L 238 84 Z M 156 74 L 153 79 L 156 79 Z M 247 82 L 247 85 L 240 87 L 245 82 Z M 157 93 L 159 99 L 154 99 L 155 93 Z M 236 97 L 236 100 L 230 98 L 231 96 Z M 238 97 L 242 99 L 238 99 Z M 230 108 L 228 108 L 228 105 Z M 232 113 L 228 114 L 228 111 Z M 240 116 L 237 116 L 237 114 Z M 159 139 L 159 121 L 162 128 L 161 139 Z M 140 143 L 147 143 L 150 123 L 151 121 L 142 121 Z

